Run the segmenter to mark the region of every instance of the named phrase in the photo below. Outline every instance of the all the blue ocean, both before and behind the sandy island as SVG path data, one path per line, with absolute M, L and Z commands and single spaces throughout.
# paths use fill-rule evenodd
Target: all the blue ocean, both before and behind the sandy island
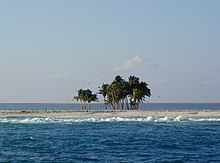
M 0 104 L 0 109 L 80 108 Z M 220 104 L 143 104 L 141 109 L 220 110 Z M 0 117 L 0 162 L 220 162 L 219 147 L 220 117 Z

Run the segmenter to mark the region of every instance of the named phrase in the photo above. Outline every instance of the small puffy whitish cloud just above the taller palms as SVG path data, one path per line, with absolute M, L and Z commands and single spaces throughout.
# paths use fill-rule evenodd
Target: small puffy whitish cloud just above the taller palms
M 121 66 L 114 68 L 114 72 L 118 71 L 127 71 L 134 68 L 139 63 L 142 62 L 142 58 L 139 55 L 136 55 L 134 58 L 125 61 Z

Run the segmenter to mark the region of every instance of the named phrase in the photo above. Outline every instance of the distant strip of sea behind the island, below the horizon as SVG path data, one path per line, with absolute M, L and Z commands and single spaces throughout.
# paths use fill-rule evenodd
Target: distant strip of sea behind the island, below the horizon
M 0 103 L 0 110 L 81 110 L 79 103 Z M 142 110 L 220 110 L 220 103 L 141 103 Z M 104 104 L 92 103 L 91 109 L 105 110 Z M 111 107 L 107 107 L 111 110 Z

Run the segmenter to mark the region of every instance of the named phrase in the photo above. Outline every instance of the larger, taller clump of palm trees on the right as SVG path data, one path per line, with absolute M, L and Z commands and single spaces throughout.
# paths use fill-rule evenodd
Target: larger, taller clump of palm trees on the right
M 104 86 L 106 87 L 103 88 Z M 138 109 L 139 104 L 145 100 L 145 96 L 151 96 L 150 89 L 147 86 L 145 82 L 140 82 L 136 76 L 130 76 L 126 81 L 118 75 L 110 85 L 103 84 L 100 93 L 105 95 L 105 101 L 112 106 L 113 110 L 120 108 L 123 110 L 125 102 L 127 109 Z

